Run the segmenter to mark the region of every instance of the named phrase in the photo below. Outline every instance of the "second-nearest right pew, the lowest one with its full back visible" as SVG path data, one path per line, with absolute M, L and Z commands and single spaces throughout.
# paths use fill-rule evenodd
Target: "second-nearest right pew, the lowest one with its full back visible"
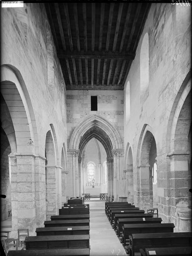
M 153 247 L 189 247 L 192 244 L 191 232 L 174 232 L 174 233 L 144 233 L 132 234 L 129 236 L 130 256 L 134 256 L 139 249 Z

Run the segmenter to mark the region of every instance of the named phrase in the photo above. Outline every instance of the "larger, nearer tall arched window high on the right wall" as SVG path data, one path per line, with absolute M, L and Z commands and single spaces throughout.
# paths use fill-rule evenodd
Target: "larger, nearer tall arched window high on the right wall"
M 145 101 L 149 95 L 149 35 L 144 35 L 140 52 L 140 89 L 141 101 Z

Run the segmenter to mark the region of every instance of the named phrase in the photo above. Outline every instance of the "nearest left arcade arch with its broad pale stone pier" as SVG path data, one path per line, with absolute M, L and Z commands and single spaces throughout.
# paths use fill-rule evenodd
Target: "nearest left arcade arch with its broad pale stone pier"
M 14 212 L 11 236 L 16 236 L 17 229 L 23 227 L 33 233 L 44 217 L 43 211 L 36 207 L 42 199 L 39 169 L 44 158 L 39 155 L 37 125 L 27 87 L 20 71 L 10 64 L 1 66 L 1 94 L 4 101 L 2 128 L 11 147 L 8 155 Z

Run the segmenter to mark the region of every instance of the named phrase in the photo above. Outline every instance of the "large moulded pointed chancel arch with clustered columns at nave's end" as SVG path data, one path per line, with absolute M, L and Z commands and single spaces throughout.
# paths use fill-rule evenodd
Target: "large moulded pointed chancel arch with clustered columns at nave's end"
M 71 134 L 68 144 L 68 170 L 73 191 L 69 195 L 80 196 L 79 173 L 81 172 L 82 152 L 92 138 L 99 140 L 107 154 L 108 194 L 118 199 L 118 181 L 123 176 L 124 149 L 116 128 L 101 116 L 93 115 L 82 121 Z M 79 158 L 79 159 L 78 159 Z M 78 163 L 79 160 L 79 163 Z

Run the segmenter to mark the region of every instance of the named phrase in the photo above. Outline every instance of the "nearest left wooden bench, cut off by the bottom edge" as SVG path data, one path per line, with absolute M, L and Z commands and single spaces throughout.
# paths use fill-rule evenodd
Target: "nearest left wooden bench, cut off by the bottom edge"
M 7 256 L 89 256 L 89 248 L 9 251 Z

